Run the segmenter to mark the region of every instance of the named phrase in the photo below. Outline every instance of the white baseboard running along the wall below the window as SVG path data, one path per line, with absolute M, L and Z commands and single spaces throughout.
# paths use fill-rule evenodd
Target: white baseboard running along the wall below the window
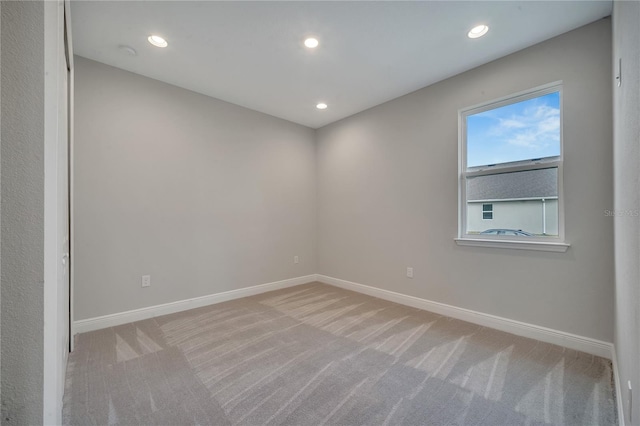
M 332 278 L 326 275 L 318 275 L 318 281 L 336 287 L 344 288 L 346 290 L 367 294 L 379 299 L 389 300 L 391 302 L 400 303 L 402 305 L 411 306 L 413 308 L 418 308 L 425 311 L 434 312 L 436 314 L 457 318 L 463 321 L 482 325 L 484 327 L 495 328 L 507 333 L 516 334 L 518 336 L 529 337 L 531 339 L 540 340 L 542 342 L 564 346 L 566 348 L 575 349 L 603 358 L 612 359 L 613 357 L 612 343 L 591 339 L 589 337 L 565 333 L 563 331 L 553 330 L 551 328 L 527 324 L 508 318 L 502 318 L 495 315 L 472 311 L 470 309 L 458 308 L 456 306 L 451 306 L 440 302 L 433 302 L 431 300 L 408 296 L 406 294 L 383 290 L 380 288 L 358 284 L 351 281 L 345 281 L 338 278 Z

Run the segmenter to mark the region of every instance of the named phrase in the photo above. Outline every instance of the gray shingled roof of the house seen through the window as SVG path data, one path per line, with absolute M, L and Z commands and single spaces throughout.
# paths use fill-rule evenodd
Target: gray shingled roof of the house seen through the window
M 527 170 L 467 179 L 467 200 L 558 196 L 558 169 Z

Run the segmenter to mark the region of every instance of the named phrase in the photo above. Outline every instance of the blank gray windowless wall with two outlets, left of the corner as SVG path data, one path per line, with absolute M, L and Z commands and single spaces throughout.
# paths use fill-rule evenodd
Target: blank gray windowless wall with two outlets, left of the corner
M 313 130 L 75 66 L 76 320 L 316 272 Z

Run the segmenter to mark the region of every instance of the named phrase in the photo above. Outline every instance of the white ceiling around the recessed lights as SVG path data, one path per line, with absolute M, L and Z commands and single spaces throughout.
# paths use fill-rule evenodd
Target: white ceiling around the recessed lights
M 77 55 L 318 128 L 606 17 L 612 2 L 73 1 L 71 8 Z M 479 23 L 489 33 L 467 38 Z M 151 46 L 151 33 L 169 47 Z M 320 40 L 315 50 L 303 45 L 309 35 Z M 329 108 L 317 110 L 320 101 Z

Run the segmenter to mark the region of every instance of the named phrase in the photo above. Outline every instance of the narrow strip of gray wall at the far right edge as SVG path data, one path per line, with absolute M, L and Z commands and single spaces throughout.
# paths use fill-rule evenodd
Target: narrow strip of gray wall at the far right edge
M 627 424 L 640 424 L 640 3 L 614 2 L 614 71 L 622 58 L 623 81 L 613 88 L 616 327 L 615 345 Z M 627 381 L 634 389 L 629 419 Z

